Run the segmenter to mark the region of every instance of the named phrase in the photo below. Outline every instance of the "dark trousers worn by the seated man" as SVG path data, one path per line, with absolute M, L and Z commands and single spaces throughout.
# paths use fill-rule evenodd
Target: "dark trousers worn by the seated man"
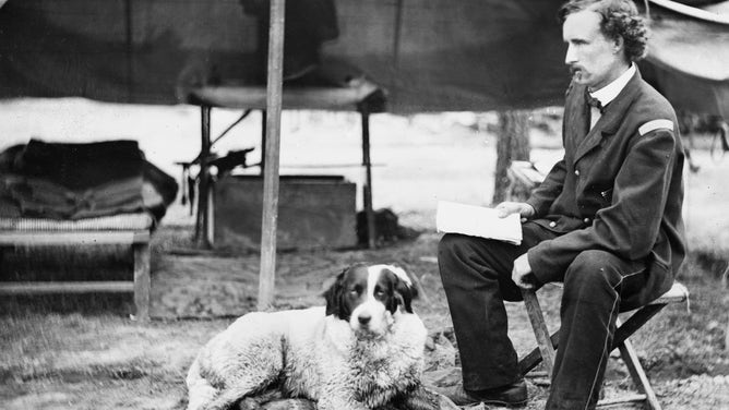
M 522 300 L 511 280 L 516 257 L 555 233 L 523 225 L 516 246 L 501 241 L 445 234 L 439 264 L 458 342 L 463 384 L 481 390 L 511 384 L 522 375 L 509 339 L 504 300 Z M 644 264 L 605 251 L 582 252 L 561 276 L 559 349 L 547 409 L 589 409 L 597 402 L 621 294 L 643 285 Z

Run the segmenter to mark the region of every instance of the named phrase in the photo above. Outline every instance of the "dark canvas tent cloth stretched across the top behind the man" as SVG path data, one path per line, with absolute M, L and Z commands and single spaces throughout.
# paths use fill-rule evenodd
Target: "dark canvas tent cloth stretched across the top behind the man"
M 530 108 L 560 105 L 569 81 L 555 22 L 561 2 L 291 0 L 289 10 L 323 9 L 288 13 L 287 23 L 289 35 L 299 31 L 294 39 L 313 41 L 313 62 L 326 74 L 318 81 L 366 76 L 387 91 L 389 111 Z M 263 85 L 266 41 L 254 11 L 267 3 L 7 1 L 0 8 L 0 98 L 180 104 L 189 102 L 190 87 Z M 722 4 L 706 8 L 724 11 Z M 727 119 L 729 26 L 658 4 L 649 12 L 646 76 L 677 107 Z M 294 61 L 306 44 L 289 47 L 284 61 Z

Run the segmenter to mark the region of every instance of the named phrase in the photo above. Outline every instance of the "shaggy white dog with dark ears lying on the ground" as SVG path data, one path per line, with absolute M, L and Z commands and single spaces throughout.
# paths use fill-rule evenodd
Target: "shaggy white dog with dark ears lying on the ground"
M 188 372 L 188 410 L 272 388 L 319 410 L 440 408 L 420 383 L 427 330 L 405 270 L 356 264 L 323 296 L 326 306 L 249 313 L 211 339 Z

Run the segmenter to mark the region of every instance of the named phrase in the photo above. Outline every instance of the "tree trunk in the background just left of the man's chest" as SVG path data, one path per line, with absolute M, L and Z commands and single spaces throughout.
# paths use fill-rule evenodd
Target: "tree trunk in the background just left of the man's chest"
M 529 113 L 526 110 L 499 112 L 497 142 L 497 172 L 493 188 L 493 204 L 509 197 L 507 169 L 513 160 L 529 160 Z M 517 193 L 514 201 L 523 201 L 528 193 Z

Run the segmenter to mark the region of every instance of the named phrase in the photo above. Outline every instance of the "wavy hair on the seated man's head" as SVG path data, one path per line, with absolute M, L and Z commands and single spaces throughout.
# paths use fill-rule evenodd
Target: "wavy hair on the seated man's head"
M 645 57 L 648 46 L 648 27 L 638 15 L 632 0 L 571 0 L 562 5 L 558 14 L 560 24 L 567 15 L 590 10 L 602 16 L 600 32 L 611 39 L 622 37 L 628 61 Z

